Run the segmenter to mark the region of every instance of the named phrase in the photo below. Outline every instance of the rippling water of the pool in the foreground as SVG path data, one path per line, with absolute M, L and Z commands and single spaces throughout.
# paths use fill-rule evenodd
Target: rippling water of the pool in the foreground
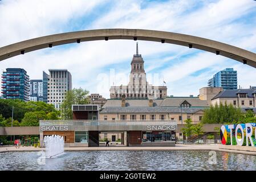
M 0 170 L 256 170 L 256 156 L 219 151 L 2 152 Z

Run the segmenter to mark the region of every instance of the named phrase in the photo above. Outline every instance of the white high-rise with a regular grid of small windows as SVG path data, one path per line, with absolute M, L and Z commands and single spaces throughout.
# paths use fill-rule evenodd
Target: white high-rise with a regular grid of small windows
M 47 104 L 60 108 L 65 93 L 72 89 L 71 73 L 67 69 L 49 69 L 50 75 L 47 86 Z

